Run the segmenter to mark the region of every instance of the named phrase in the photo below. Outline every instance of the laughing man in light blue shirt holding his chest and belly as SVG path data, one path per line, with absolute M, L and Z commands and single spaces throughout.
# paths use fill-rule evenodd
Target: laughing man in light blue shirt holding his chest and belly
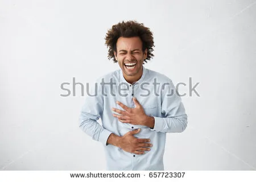
M 187 114 L 170 78 L 143 66 L 154 56 L 152 32 L 127 21 L 112 26 L 105 40 L 121 69 L 98 78 L 80 128 L 104 144 L 107 170 L 164 170 L 166 133 L 184 131 Z

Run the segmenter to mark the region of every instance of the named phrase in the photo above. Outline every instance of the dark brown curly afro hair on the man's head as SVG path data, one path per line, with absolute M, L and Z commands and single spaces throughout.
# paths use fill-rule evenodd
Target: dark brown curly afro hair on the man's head
M 152 51 L 154 51 L 153 47 L 155 46 L 150 28 L 144 27 L 143 23 L 138 23 L 136 20 L 129 20 L 127 22 L 122 21 L 122 23 L 119 22 L 118 24 L 113 25 L 107 32 L 105 45 L 109 48 L 109 60 L 113 59 L 114 63 L 117 63 L 114 51 L 117 52 L 117 40 L 121 36 L 125 38 L 139 36 L 142 40 L 142 51 L 144 52 L 147 49 L 147 58 L 144 59 L 144 62 L 147 63 L 147 60 L 154 57 Z

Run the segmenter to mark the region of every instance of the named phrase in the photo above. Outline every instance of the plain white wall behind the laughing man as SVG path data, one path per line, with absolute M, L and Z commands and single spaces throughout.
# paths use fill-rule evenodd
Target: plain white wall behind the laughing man
M 200 82 L 165 168 L 255 170 L 255 0 L 0 1 L 0 169 L 105 170 L 102 144 L 78 127 L 85 97 L 61 97 L 60 84 L 118 69 L 104 37 L 122 20 L 154 33 L 146 68 Z

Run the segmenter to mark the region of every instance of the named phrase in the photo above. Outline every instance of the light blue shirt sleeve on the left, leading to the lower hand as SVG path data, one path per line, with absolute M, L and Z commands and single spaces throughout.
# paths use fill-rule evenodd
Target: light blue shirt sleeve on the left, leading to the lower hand
M 88 96 L 85 98 L 85 103 L 79 117 L 79 127 L 88 134 L 92 139 L 107 145 L 109 135 L 112 133 L 106 130 L 97 120 L 102 115 L 103 111 L 103 95 L 101 92 L 101 84 L 92 85 Z

